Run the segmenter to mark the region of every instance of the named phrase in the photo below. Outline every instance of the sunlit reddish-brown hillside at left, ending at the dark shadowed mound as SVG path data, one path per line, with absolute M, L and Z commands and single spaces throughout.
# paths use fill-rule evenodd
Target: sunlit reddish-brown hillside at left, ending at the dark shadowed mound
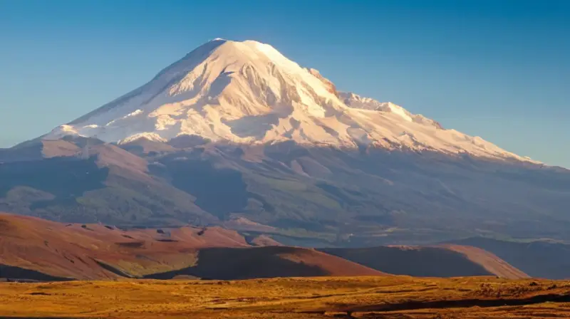
M 170 271 L 195 263 L 200 248 L 248 246 L 236 231 L 219 227 L 123 231 L 10 214 L 0 214 L 0 234 L 0 265 L 80 279 Z

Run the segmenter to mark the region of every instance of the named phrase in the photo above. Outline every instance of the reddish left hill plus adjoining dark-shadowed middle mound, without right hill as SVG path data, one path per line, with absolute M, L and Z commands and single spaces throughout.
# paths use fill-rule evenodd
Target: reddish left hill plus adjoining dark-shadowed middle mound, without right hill
M 154 273 L 160 274 L 153 278 L 185 274 L 222 279 L 383 275 L 311 249 L 248 248 L 243 236 L 219 227 L 126 231 L 0 214 L 0 234 L 0 277 L 4 278 L 100 279 Z

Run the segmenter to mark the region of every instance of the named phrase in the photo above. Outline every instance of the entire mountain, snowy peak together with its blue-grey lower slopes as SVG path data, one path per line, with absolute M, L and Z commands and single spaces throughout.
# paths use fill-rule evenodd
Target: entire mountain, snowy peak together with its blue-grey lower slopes
M 295 246 L 569 241 L 568 206 L 568 170 L 342 93 L 255 41 L 206 43 L 141 88 L 0 150 L 2 211 L 227 225 Z

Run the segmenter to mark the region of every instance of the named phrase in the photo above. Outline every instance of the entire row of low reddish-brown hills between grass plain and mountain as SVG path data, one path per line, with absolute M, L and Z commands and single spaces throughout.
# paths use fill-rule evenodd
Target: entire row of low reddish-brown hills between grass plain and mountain
M 11 214 L 0 214 L 0 235 L 0 278 L 12 279 L 527 277 L 492 253 L 459 245 L 318 250 L 219 226 L 120 229 Z

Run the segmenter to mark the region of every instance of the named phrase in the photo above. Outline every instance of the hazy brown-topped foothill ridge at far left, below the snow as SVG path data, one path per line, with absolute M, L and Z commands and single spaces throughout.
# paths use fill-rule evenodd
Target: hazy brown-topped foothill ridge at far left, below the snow
M 66 149 L 54 154 L 53 143 Z M 3 211 L 123 225 L 217 220 L 195 205 L 195 197 L 152 176 L 147 160 L 100 140 L 31 142 L 5 154 L 10 156 L 0 165 Z

